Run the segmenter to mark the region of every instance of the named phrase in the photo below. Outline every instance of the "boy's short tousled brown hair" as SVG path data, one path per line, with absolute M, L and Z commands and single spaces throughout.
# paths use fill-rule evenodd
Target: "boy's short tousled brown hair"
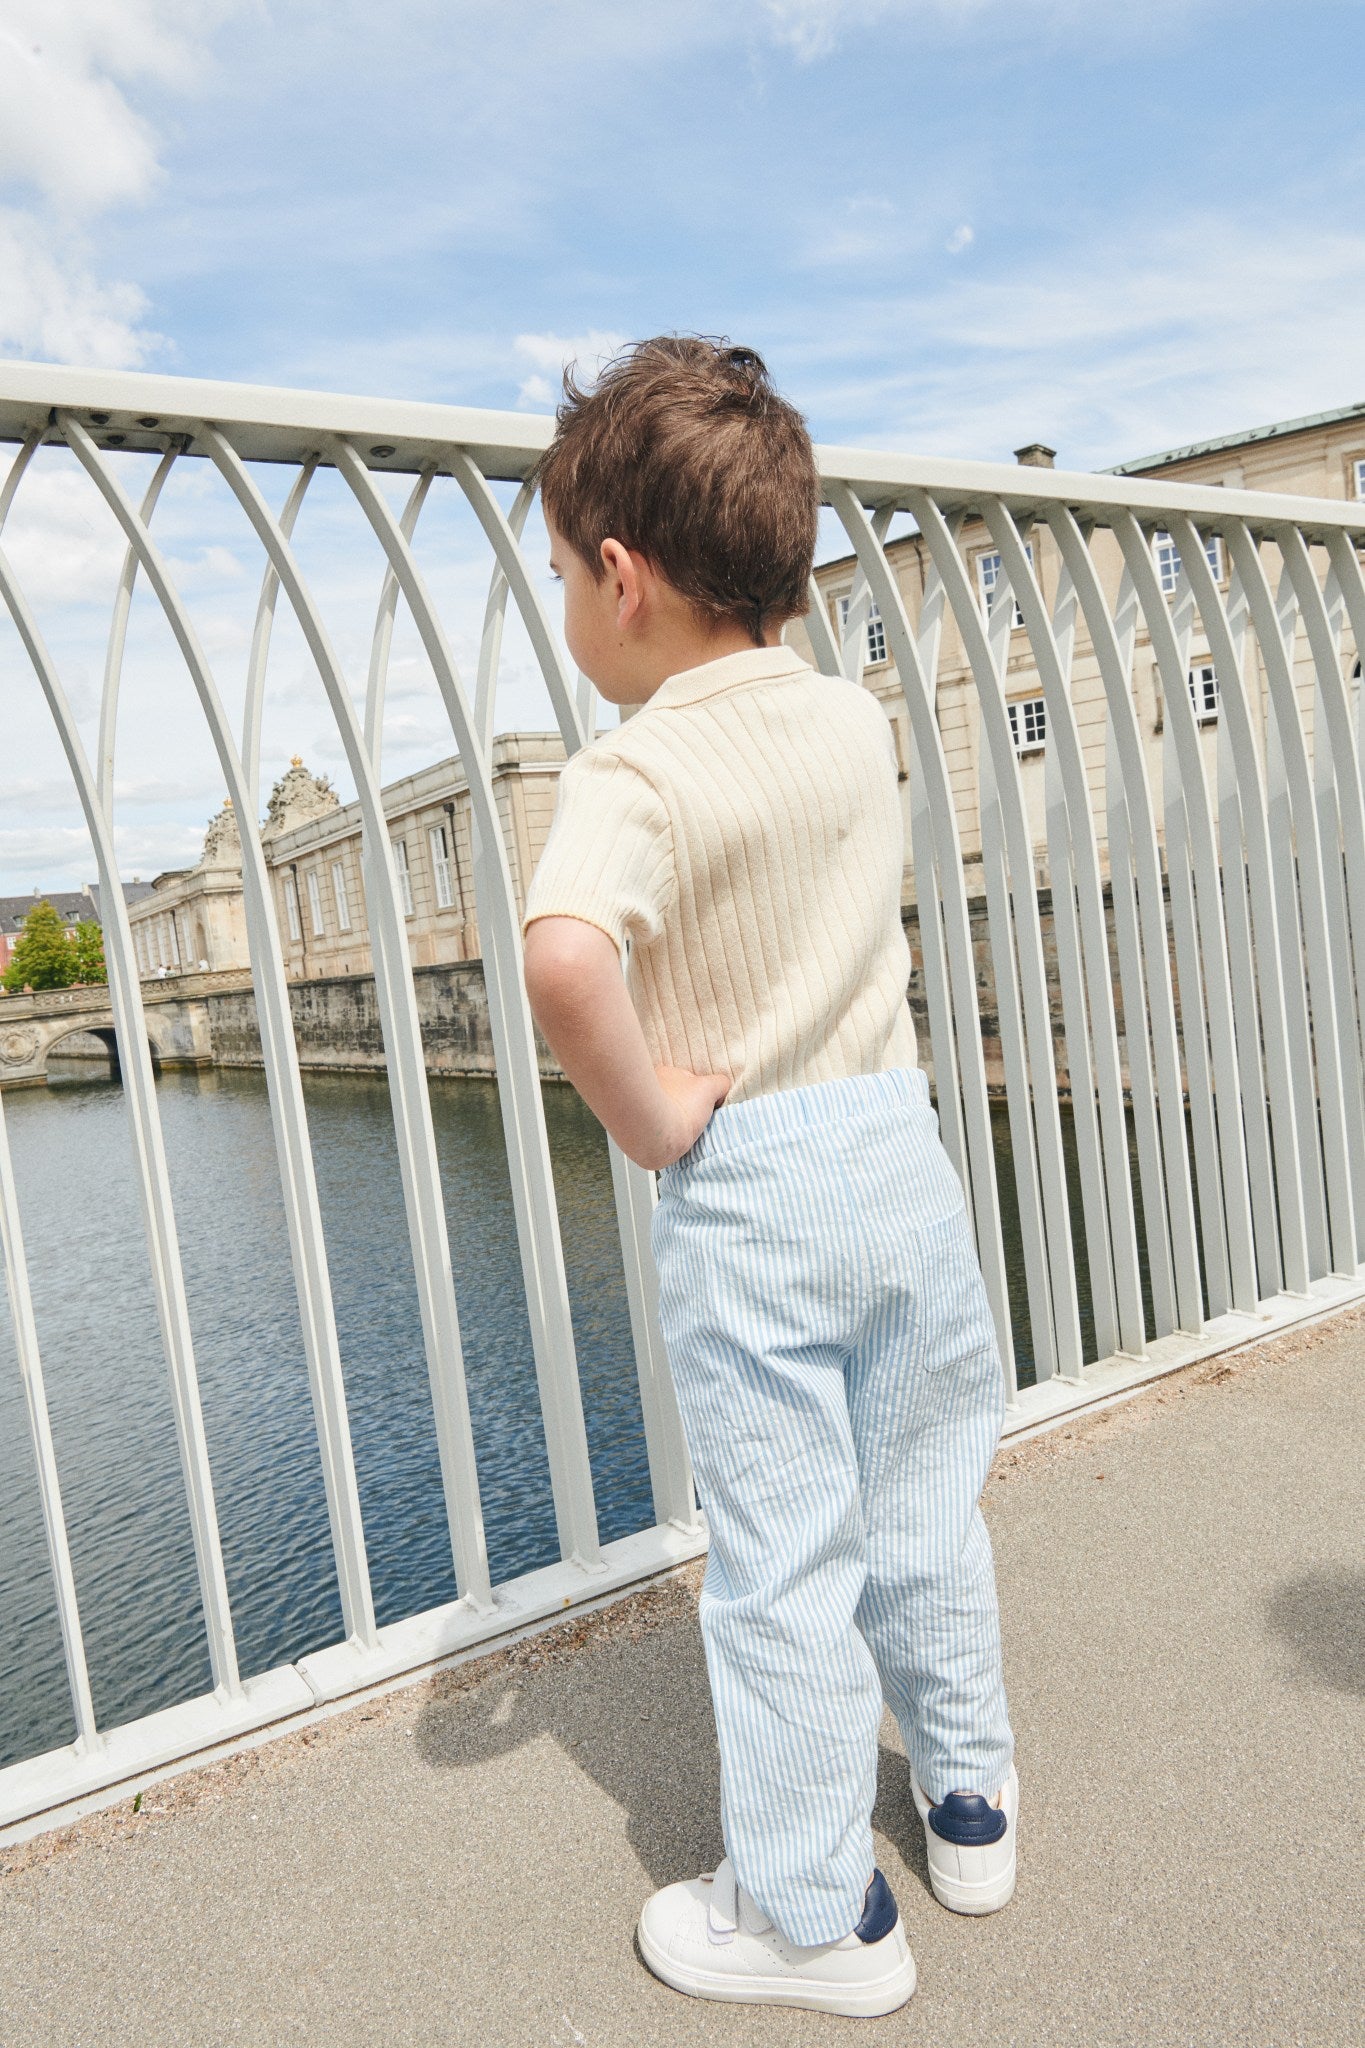
M 557 418 L 540 500 L 593 575 L 612 539 L 755 645 L 765 625 L 804 614 L 821 481 L 806 422 L 753 348 L 634 342 L 589 389 L 571 365 Z

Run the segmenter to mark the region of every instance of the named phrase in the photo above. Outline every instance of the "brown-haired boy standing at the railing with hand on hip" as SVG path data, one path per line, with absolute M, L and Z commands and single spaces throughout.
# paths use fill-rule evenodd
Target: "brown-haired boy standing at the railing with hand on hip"
M 540 492 L 569 651 L 639 709 L 565 766 L 526 987 L 659 1169 L 659 1315 L 710 1524 L 726 1855 L 647 1903 L 641 1954 L 696 1997 L 888 2013 L 915 1964 L 872 1864 L 882 1702 L 943 1905 L 1007 1903 L 1017 1819 L 978 1509 L 1003 1380 L 915 1065 L 894 739 L 780 643 L 819 477 L 751 350 L 661 338 L 589 393 L 565 377 Z

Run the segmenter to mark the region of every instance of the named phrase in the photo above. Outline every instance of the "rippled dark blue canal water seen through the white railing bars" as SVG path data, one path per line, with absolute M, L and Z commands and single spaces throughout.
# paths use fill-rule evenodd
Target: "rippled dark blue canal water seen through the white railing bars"
M 6 1096 L 39 1343 L 96 1714 L 209 1688 L 188 1518 L 123 1092 Z M 340 1638 L 321 1466 L 260 1073 L 158 1079 L 244 1673 Z M 454 1599 L 417 1298 L 383 1077 L 307 1075 L 379 1620 Z M 653 1520 L 606 1141 L 544 1090 L 602 1538 Z M 557 1559 L 493 1081 L 432 1081 L 493 1581 Z M 1007 1159 L 1001 1114 L 997 1147 Z M 1021 1380 L 1031 1380 L 1013 1182 Z M 1078 1219 L 1076 1219 L 1078 1221 Z M 1085 1303 L 1089 1319 L 1089 1300 Z M 1093 1333 L 1087 1329 L 1087 1356 Z M 0 1317 L 0 1765 L 70 1741 L 72 1710 L 8 1315 Z

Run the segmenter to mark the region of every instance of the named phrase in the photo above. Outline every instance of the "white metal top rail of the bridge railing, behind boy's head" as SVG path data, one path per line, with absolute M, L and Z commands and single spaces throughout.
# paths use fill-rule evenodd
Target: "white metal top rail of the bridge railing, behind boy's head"
M 555 430 L 548 414 L 532 412 L 426 406 L 338 391 L 158 377 L 145 371 L 0 362 L 0 440 L 25 440 L 61 408 L 80 414 L 82 424 L 94 424 L 106 444 L 149 455 L 160 455 L 168 436 L 192 436 L 211 420 L 229 432 L 237 455 L 254 463 L 305 463 L 319 455 L 323 436 L 346 434 L 362 446 L 370 467 L 381 471 L 411 475 L 432 463 L 440 465 L 458 446 L 487 477 L 505 481 L 520 481 L 528 473 Z M 104 418 L 92 418 L 98 414 Z M 51 438 L 59 442 L 61 434 L 53 430 Z M 1216 530 L 1224 522 L 1246 520 L 1252 532 L 1293 524 L 1310 539 L 1349 532 L 1365 541 L 1365 504 L 1338 498 L 1236 492 L 1216 483 L 1173 483 L 1166 477 L 968 463 L 874 449 L 819 446 L 817 457 L 825 481 L 847 483 L 866 504 L 886 504 L 905 492 L 923 489 L 948 512 L 970 512 L 984 498 L 999 498 L 1011 512 L 1023 514 L 1058 504 L 1101 520 L 1126 510 L 1138 518 L 1187 512 Z

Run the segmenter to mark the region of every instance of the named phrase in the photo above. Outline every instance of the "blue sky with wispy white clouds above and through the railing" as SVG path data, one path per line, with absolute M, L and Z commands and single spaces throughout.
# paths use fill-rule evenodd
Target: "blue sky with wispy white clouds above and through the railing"
M 819 438 L 1101 467 L 1365 397 L 1363 76 L 1365 0 L 0 0 L 0 354 L 544 410 L 565 354 L 726 332 Z M 45 487 L 14 549 L 80 696 Z M 250 578 L 192 500 L 231 666 Z M 70 881 L 10 735 L 0 885 Z M 203 831 L 186 750 L 125 801 L 143 868 Z

